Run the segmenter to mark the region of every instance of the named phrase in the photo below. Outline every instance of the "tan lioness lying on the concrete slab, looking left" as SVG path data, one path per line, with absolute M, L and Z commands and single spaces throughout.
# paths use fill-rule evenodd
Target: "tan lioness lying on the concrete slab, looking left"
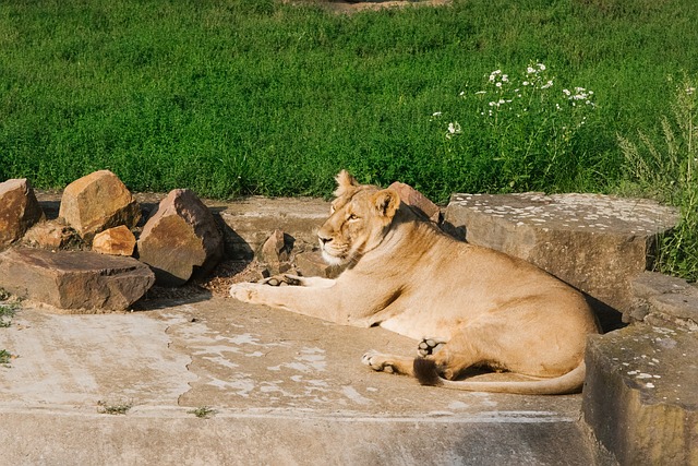
M 418 358 L 366 353 L 376 371 L 422 384 L 520 394 L 579 391 L 595 318 L 575 289 L 540 268 L 460 242 L 421 220 L 394 190 L 337 176 L 330 217 L 317 232 L 336 279 L 279 278 L 230 288 L 241 301 L 356 326 L 381 325 L 418 339 Z M 455 381 L 484 366 L 524 381 Z

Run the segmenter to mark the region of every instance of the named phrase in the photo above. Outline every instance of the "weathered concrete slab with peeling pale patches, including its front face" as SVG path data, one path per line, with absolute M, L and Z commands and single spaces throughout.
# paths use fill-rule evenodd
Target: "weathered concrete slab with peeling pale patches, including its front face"
M 370 348 L 413 353 L 399 335 L 196 299 L 19 310 L 0 328 L 17 356 L 0 366 L 0 465 L 604 463 L 580 395 L 420 386 L 360 363 Z

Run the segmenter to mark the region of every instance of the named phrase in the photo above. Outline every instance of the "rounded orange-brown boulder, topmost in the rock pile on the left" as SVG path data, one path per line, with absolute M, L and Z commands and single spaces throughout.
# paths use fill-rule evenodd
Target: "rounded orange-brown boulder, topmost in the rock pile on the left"
M 65 187 L 59 216 L 91 242 L 107 228 L 133 228 L 141 218 L 141 206 L 115 174 L 100 170 Z

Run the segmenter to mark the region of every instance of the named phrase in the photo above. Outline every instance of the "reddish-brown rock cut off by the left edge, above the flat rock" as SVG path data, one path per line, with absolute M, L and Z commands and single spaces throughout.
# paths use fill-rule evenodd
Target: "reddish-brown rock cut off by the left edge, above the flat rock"
M 44 217 L 27 179 L 12 179 L 0 183 L 0 250 L 22 238 L 32 225 Z

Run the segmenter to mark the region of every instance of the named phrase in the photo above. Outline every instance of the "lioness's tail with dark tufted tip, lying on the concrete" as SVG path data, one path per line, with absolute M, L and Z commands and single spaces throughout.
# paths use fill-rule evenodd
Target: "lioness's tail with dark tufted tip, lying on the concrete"
M 436 363 L 433 360 L 424 358 L 414 359 L 413 369 L 414 377 L 417 377 L 417 380 L 422 385 L 435 385 L 468 392 L 515 393 L 519 395 L 564 395 L 578 393 L 581 390 L 586 375 L 586 365 L 583 361 L 564 375 L 522 382 L 452 381 L 438 374 Z

